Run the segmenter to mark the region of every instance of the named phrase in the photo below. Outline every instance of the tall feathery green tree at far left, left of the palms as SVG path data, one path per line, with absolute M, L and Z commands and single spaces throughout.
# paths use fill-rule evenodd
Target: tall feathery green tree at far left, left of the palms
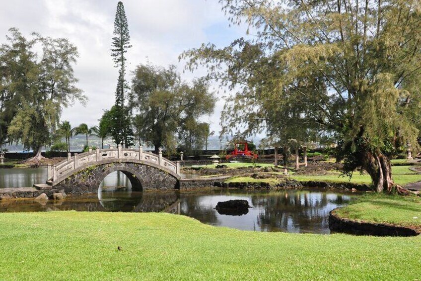
M 1 114 L 5 123 L 10 120 L 8 140 L 32 148 L 37 152 L 34 160 L 39 160 L 41 148 L 55 135 L 63 107 L 86 99 L 75 86 L 78 80 L 73 75 L 78 53 L 67 39 L 33 33 L 34 38 L 28 41 L 18 29 L 9 32 L 9 44 L 0 50 Z M 37 43 L 42 47 L 39 60 L 32 51 Z

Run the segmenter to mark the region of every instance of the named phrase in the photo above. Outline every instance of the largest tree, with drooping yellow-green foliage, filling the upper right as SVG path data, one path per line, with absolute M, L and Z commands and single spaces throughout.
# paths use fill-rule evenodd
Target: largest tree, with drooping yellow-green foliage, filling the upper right
M 225 121 L 261 118 L 264 125 L 262 108 L 300 108 L 303 126 L 336 138 L 346 172 L 361 168 L 377 191 L 406 192 L 393 181 L 389 156 L 396 136 L 419 148 L 419 2 L 220 2 L 232 22 L 245 19 L 256 31 L 254 40 L 203 45 L 184 57 L 191 68 L 208 64 L 209 77 L 234 90 Z M 261 52 L 259 64 L 253 51 Z M 284 116 L 285 126 L 294 122 Z

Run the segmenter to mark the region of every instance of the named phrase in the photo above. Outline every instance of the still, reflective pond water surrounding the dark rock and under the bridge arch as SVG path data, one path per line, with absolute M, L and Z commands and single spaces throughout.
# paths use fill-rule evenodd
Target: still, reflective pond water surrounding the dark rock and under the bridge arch
M 1 187 L 28 187 L 46 178 L 45 169 L 0 169 Z M 329 234 L 329 212 L 348 204 L 355 193 L 309 190 L 178 190 L 135 192 L 120 172 L 108 175 L 98 194 L 70 197 L 64 201 L 0 201 L 0 212 L 29 211 L 122 211 L 169 212 L 214 225 L 241 230 Z M 242 215 L 219 213 L 218 201 L 244 199 L 252 208 Z

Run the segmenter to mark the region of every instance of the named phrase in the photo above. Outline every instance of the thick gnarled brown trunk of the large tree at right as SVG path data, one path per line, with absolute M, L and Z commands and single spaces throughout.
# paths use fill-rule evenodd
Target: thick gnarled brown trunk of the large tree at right
M 389 158 L 383 153 L 377 151 L 375 153 L 365 152 L 362 155 L 362 168 L 367 171 L 371 177 L 371 181 L 376 192 L 394 192 L 409 194 L 410 192 L 395 184 L 392 178 L 392 165 Z

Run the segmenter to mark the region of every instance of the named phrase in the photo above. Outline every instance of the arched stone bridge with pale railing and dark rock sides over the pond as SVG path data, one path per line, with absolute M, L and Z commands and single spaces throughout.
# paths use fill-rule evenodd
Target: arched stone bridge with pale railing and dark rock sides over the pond
M 165 190 L 179 188 L 180 163 L 139 149 L 118 146 L 68 155 L 68 159 L 48 166 L 47 184 L 70 194 L 95 193 L 102 180 L 112 172 L 124 173 L 133 190 Z

